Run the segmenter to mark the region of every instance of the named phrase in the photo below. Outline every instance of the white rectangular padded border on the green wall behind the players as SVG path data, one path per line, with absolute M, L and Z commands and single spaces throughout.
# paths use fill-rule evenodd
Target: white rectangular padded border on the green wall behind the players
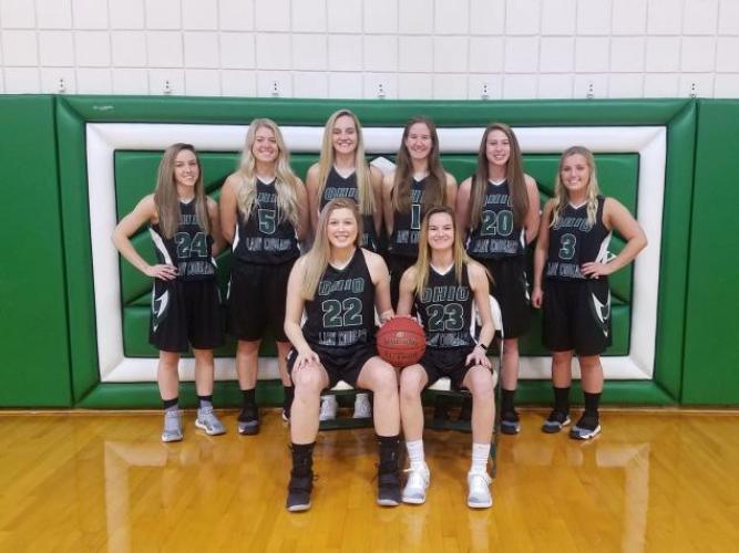
M 102 382 L 154 382 L 155 358 L 127 358 L 123 354 L 119 257 L 110 237 L 116 225 L 113 155 L 116 149 L 163 150 L 187 142 L 202 152 L 240 152 L 244 125 L 182 125 L 110 123 L 86 125 L 90 228 L 95 290 L 99 371 Z M 321 126 L 281 127 L 292 153 L 320 150 Z M 483 127 L 439 128 L 444 154 L 475 154 Z M 514 128 L 524 153 L 558 154 L 573 145 L 598 153 L 639 155 L 637 220 L 649 240 L 634 267 L 630 348 L 627 356 L 603 357 L 608 379 L 651 379 L 657 331 L 657 296 L 661 243 L 667 131 L 664 126 L 521 127 Z M 365 127 L 368 154 L 394 153 L 400 127 Z M 578 368 L 575 368 L 578 373 Z M 183 379 L 193 379 L 191 359 L 181 365 Z M 276 359 L 260 359 L 259 378 L 277 378 Z M 522 378 L 548 378 L 550 357 L 523 357 Z M 216 378 L 233 379 L 233 359 L 216 359 Z

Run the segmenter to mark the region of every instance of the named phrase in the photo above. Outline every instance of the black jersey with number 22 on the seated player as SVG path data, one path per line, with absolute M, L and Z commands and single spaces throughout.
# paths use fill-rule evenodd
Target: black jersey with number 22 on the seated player
M 302 335 L 310 345 L 351 347 L 374 342 L 374 285 L 360 248 L 349 264 L 330 264 L 306 302 Z

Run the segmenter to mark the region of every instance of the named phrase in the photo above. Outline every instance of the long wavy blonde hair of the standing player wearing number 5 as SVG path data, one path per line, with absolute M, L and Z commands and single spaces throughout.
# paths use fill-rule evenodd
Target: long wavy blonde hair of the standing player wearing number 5
M 257 201 L 257 161 L 252 149 L 256 140 L 257 131 L 260 128 L 268 128 L 275 135 L 277 143 L 277 159 L 275 160 L 275 192 L 277 196 L 277 211 L 279 213 L 279 222 L 289 221 L 294 227 L 298 226 L 298 195 L 296 188 L 298 185 L 298 177 L 290 168 L 290 154 L 285 146 L 283 133 L 279 131 L 277 124 L 271 119 L 260 118 L 254 119 L 249 125 L 249 131 L 246 133 L 246 143 L 244 152 L 242 153 L 242 160 L 237 174 L 240 177 L 236 198 L 238 201 L 238 209 L 248 220 L 252 210 Z

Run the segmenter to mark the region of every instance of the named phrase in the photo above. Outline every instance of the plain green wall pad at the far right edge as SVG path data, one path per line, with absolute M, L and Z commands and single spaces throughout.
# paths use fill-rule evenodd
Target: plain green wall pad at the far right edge
M 681 401 L 739 404 L 739 101 L 701 101 Z

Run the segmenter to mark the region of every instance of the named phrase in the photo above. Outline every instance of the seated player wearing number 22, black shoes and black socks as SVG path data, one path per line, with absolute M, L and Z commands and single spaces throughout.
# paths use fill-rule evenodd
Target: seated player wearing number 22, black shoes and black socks
M 295 399 L 288 511 L 310 508 L 320 394 L 338 380 L 374 393 L 380 445 L 377 502 L 400 504 L 398 379 L 374 347 L 374 309 L 381 321 L 392 316 L 390 275 L 380 255 L 359 248 L 361 232 L 356 201 L 329 201 L 320 213 L 311 250 L 290 272 L 285 333 L 294 346 L 288 369 Z

